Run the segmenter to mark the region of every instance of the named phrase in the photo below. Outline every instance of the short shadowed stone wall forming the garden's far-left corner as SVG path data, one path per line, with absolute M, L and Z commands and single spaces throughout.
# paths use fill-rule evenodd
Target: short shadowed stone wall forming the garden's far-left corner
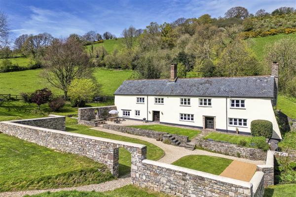
M 14 120 L 10 122 L 18 123 L 22 125 L 30 125 L 35 127 L 53 129 L 53 130 L 66 131 L 65 121 L 66 121 L 65 116 L 49 115 L 49 117 L 46 117 L 46 118 Z

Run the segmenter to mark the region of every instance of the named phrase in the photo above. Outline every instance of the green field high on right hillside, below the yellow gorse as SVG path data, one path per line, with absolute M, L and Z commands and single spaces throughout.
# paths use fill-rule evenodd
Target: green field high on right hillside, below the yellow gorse
M 257 58 L 262 61 L 264 58 L 264 50 L 267 44 L 273 44 L 274 42 L 283 39 L 283 38 L 293 38 L 296 40 L 296 33 L 280 33 L 277 35 L 269 35 L 266 37 L 255 37 L 247 39 L 247 42 L 250 43 L 251 49 L 255 52 Z

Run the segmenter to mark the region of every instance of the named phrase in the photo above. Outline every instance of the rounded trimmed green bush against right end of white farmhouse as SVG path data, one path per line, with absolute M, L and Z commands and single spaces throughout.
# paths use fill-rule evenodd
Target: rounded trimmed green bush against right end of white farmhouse
M 263 136 L 271 138 L 272 136 L 272 123 L 267 120 L 253 120 L 251 122 L 251 133 L 253 136 Z

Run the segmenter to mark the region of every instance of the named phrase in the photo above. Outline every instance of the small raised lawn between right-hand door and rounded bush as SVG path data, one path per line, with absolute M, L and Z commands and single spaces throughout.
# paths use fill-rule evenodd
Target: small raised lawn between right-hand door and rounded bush
M 214 141 L 224 141 L 232 144 L 239 144 L 241 140 L 246 140 L 247 143 L 251 143 L 251 136 L 224 134 L 219 132 L 210 132 L 204 137 L 204 139 L 213 139 Z

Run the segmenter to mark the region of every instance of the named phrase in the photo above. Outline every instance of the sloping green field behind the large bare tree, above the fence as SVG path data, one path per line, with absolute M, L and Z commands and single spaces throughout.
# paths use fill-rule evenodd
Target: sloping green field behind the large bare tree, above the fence
M 19 95 L 21 92 L 34 92 L 44 87 L 50 88 L 54 94 L 63 94 L 61 90 L 53 88 L 43 78 L 39 77 L 42 69 L 24 70 L 0 73 L 0 93 Z M 93 75 L 101 85 L 101 94 L 110 95 L 128 79 L 131 70 L 111 70 L 96 68 Z

